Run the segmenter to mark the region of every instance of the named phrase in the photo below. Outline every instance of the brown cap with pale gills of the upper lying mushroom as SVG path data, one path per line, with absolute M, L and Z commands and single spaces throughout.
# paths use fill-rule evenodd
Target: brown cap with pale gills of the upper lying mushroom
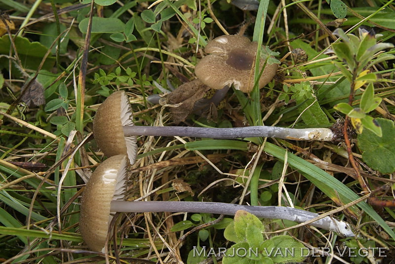
M 132 109 L 124 91 L 111 94 L 96 111 L 93 136 L 108 156 L 124 154 L 134 164 L 137 154 L 136 137 L 123 135 L 123 126 L 133 125 Z

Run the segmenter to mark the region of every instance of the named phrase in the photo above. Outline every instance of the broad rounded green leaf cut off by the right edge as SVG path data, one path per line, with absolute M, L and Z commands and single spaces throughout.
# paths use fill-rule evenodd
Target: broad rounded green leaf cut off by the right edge
M 376 118 L 377 125 L 381 126 L 382 137 L 370 130 L 364 129 L 358 135 L 358 147 L 362 151 L 362 158 L 366 164 L 381 173 L 395 171 L 395 127 L 394 121 Z

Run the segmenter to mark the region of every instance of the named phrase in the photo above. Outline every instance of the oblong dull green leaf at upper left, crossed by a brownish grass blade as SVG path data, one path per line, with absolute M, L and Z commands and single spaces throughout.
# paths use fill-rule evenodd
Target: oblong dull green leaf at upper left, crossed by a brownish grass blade
M 86 34 L 88 28 L 89 18 L 82 19 L 79 22 L 78 28 L 79 31 L 83 34 Z M 120 21 L 118 18 L 113 17 L 97 17 L 94 16 L 92 19 L 92 31 L 91 33 L 117 33 L 123 32 L 125 29 L 125 24 Z

